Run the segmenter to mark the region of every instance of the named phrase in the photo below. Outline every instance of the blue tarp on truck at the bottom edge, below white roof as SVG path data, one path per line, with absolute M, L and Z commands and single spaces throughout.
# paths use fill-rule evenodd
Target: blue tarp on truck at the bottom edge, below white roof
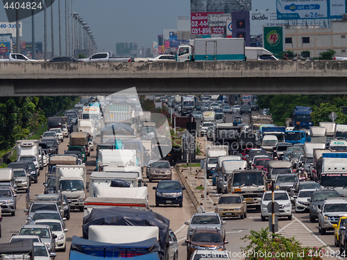
M 72 260 L 73 258 L 71 257 L 76 257 L 74 258 L 76 260 L 87 260 L 90 259 L 90 256 L 97 257 L 98 259 L 100 257 L 119 259 L 124 257 L 142 256 L 146 254 L 151 254 L 153 252 L 155 252 L 159 259 L 158 250 L 160 250 L 160 246 L 158 245 L 158 241 L 155 238 L 146 239 L 145 241 L 140 241 L 136 243 L 113 244 L 91 241 L 78 236 L 73 236 L 71 241 L 69 259 Z M 76 254 L 76 252 L 78 252 L 78 254 Z M 151 257 L 155 256 L 155 254 L 151 254 Z M 148 257 L 149 256 L 138 258 L 138 260 L 149 259 Z M 153 257 L 151 259 L 156 258 Z

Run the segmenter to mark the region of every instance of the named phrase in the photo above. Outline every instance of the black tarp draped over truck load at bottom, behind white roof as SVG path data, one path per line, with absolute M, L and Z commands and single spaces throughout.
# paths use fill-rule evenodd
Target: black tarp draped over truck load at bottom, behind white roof
M 169 223 L 167 218 L 164 218 L 164 216 L 154 211 L 143 211 L 122 207 L 93 209 L 89 216 L 83 218 L 83 239 L 89 239 L 90 225 L 159 227 L 159 239 L 153 238 L 152 245 L 147 248 L 147 252 L 145 253 L 148 253 L 149 248 L 153 247 L 153 245 L 159 244 L 158 253 L 160 259 L 164 260 L 168 259 L 169 253 Z M 71 250 L 74 250 L 73 245 L 71 245 Z

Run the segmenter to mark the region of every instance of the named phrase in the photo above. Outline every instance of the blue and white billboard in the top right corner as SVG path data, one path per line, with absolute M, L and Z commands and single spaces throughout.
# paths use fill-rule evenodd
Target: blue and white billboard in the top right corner
M 276 0 L 277 19 L 341 19 L 344 0 Z

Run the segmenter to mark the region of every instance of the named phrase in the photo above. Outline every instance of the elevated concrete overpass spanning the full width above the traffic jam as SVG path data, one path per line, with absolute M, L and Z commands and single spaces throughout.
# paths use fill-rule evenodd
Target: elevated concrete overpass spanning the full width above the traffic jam
M 0 96 L 347 94 L 347 62 L 0 62 Z

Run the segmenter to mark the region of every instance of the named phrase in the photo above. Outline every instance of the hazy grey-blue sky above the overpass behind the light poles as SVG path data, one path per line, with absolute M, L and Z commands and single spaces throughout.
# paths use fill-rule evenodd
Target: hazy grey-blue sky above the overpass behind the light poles
M 71 0 L 69 0 L 71 4 Z M 189 0 L 73 0 L 73 10 L 90 27 L 98 51 L 114 51 L 116 42 L 150 48 L 164 28 L 177 28 L 176 17 L 190 16 Z M 62 54 L 65 54 L 65 0 L 60 0 Z M 8 21 L 0 8 L 0 21 Z M 58 54 L 58 0 L 53 3 L 55 54 Z M 22 40 L 31 42 L 31 18 L 22 20 Z M 70 20 L 71 22 L 71 20 Z M 51 10 L 47 10 L 47 50 L 51 51 Z M 44 14 L 35 15 L 35 41 L 44 42 Z

